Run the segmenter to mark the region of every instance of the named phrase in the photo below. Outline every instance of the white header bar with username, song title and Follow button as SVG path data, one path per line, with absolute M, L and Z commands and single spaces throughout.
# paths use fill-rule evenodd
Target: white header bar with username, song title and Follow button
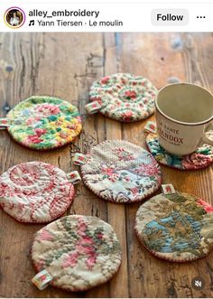
M 8 3 L 1 4 L 1 32 L 213 31 L 213 3 Z

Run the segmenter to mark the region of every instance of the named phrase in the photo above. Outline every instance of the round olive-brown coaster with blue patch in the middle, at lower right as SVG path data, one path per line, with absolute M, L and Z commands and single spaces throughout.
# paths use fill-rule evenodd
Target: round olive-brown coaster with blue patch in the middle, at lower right
M 137 211 L 135 230 L 156 257 L 188 262 L 213 248 L 213 207 L 193 195 L 159 194 Z

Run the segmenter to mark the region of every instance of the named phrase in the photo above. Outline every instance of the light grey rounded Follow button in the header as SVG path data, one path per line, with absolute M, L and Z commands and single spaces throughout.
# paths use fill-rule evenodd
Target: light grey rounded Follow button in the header
M 152 23 L 157 26 L 185 26 L 189 23 L 187 9 L 153 9 Z

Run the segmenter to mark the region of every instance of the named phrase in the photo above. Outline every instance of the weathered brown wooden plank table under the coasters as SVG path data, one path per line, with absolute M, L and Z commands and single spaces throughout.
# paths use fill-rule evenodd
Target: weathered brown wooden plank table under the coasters
M 88 89 L 93 80 L 118 71 L 144 75 L 157 88 L 171 77 L 199 83 L 213 90 L 213 35 L 200 33 L 7 33 L 0 36 L 1 117 L 31 95 L 53 95 L 79 106 L 85 115 Z M 150 118 L 152 119 L 152 118 Z M 70 157 L 87 153 L 106 139 L 125 139 L 144 146 L 145 121 L 121 124 L 102 116 L 84 116 L 84 129 L 74 145 L 38 153 L 23 148 L 0 132 L 0 172 L 27 162 L 43 161 L 65 172 L 75 167 Z M 212 168 L 181 172 L 162 166 L 163 182 L 181 192 L 191 192 L 213 203 Z M 140 203 L 115 204 L 99 200 L 81 183 L 69 213 L 95 215 L 116 229 L 123 248 L 123 262 L 106 285 L 87 293 L 71 294 L 48 287 L 39 291 L 30 249 L 33 234 L 42 225 L 24 225 L 0 211 L 1 297 L 211 297 L 213 253 L 198 261 L 176 264 L 153 257 L 134 234 L 134 217 Z M 206 286 L 192 289 L 202 276 Z

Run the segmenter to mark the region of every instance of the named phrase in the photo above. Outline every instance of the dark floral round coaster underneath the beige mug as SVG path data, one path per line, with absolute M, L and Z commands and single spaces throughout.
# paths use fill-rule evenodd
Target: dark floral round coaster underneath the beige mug
M 196 152 L 187 155 L 174 155 L 168 153 L 159 145 L 158 136 L 149 134 L 146 136 L 146 144 L 149 151 L 160 164 L 178 168 L 181 170 L 196 170 L 205 168 L 213 163 L 213 146 L 202 145 Z

